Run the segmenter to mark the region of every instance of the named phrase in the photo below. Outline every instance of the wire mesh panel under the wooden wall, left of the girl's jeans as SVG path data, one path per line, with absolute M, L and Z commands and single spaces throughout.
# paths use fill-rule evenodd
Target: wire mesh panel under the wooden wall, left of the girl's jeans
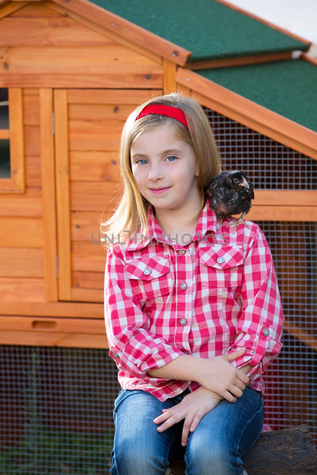
M 120 385 L 107 350 L 0 347 L 0 474 L 109 474 Z

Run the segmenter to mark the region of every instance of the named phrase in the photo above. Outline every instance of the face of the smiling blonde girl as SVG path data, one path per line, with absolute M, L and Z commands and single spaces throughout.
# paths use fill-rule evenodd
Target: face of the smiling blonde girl
M 132 173 L 145 199 L 157 209 L 182 209 L 197 190 L 198 161 L 192 147 L 178 140 L 167 124 L 142 133 L 130 148 Z M 165 189 L 154 192 L 155 189 Z

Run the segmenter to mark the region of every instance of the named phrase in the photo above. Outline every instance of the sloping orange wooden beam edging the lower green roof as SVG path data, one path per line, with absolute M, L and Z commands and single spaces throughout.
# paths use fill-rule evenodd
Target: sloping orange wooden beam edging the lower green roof
M 179 67 L 176 80 L 191 87 L 192 97 L 200 104 L 317 160 L 316 132 L 199 76 L 194 71 Z

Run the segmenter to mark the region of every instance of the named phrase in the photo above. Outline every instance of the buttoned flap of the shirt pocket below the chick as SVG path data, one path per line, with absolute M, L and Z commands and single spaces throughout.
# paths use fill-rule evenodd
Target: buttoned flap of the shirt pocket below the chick
M 228 269 L 243 264 L 243 249 L 242 246 L 201 247 L 199 249 L 199 260 L 201 264 L 206 266 L 221 270 Z

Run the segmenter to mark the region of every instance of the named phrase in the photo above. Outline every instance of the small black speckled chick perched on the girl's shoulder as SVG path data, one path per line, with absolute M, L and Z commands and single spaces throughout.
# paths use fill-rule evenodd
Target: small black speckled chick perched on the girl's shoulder
M 235 226 L 233 233 L 236 232 L 239 224 L 244 224 L 249 228 L 243 219 L 250 211 L 254 191 L 253 185 L 244 171 L 224 171 L 217 175 L 209 183 L 206 195 L 210 198 L 210 208 L 221 218 L 220 224 L 224 218 L 228 218 L 230 221 L 232 214 L 242 213 L 237 221 L 228 226 Z

